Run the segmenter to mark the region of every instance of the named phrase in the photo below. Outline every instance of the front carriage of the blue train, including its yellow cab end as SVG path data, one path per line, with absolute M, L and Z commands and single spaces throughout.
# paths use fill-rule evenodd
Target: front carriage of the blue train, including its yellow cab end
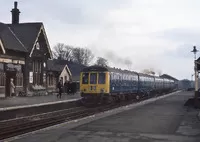
M 138 74 L 127 70 L 91 66 L 84 68 L 80 77 L 84 101 L 97 103 L 110 97 L 121 100 L 138 92 Z

